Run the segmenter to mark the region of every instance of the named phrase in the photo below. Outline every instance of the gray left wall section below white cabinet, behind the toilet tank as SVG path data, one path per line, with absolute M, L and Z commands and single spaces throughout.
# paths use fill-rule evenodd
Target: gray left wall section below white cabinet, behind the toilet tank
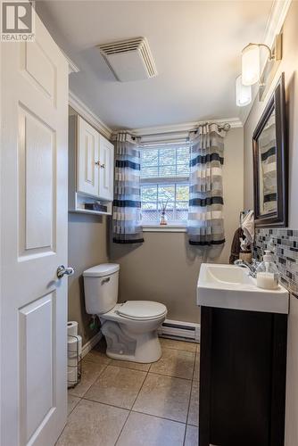
M 97 330 L 90 330 L 90 316 L 85 310 L 82 273 L 107 257 L 108 217 L 69 213 L 69 265 L 75 268 L 69 277 L 69 320 L 79 322 L 83 345 Z

